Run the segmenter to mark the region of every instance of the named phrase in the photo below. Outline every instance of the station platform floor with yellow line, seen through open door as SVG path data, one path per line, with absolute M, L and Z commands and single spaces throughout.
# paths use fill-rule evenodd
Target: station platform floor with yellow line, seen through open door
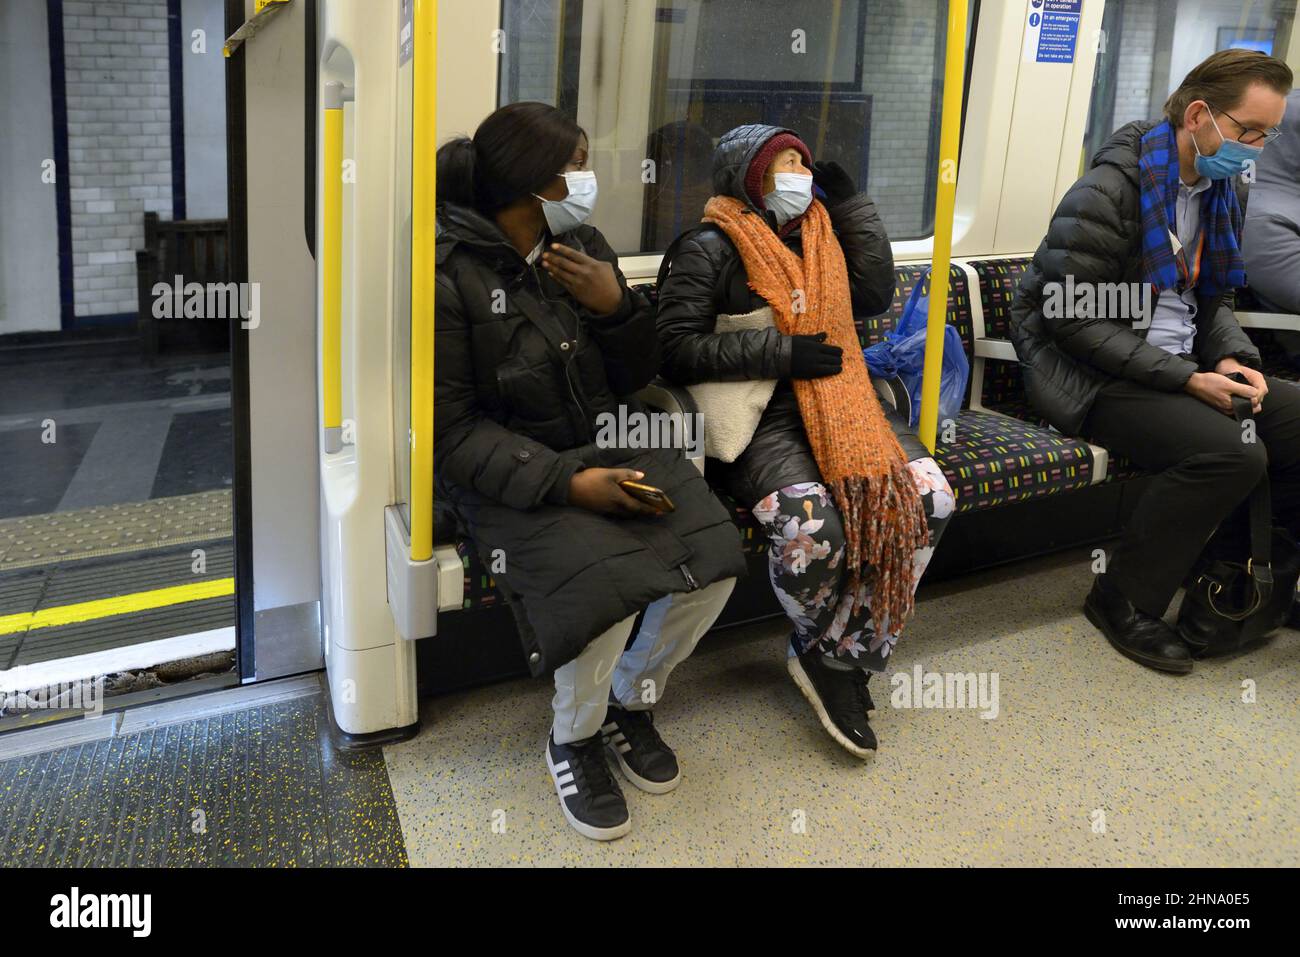
M 30 351 L 0 361 L 0 729 L 6 693 L 233 672 L 229 358 Z

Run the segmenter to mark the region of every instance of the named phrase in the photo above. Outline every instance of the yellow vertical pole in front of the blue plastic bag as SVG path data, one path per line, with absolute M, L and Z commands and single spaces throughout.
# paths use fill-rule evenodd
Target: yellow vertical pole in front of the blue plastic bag
M 957 204 L 957 160 L 962 138 L 962 92 L 966 86 L 966 5 L 948 0 L 948 52 L 944 62 L 944 116 L 939 134 L 939 190 L 935 196 L 935 261 L 930 272 L 926 322 L 926 368 L 920 380 L 920 441 L 933 454 L 939 432 L 939 378 L 944 369 L 944 324 L 948 321 L 948 273 L 953 259 L 953 209 Z

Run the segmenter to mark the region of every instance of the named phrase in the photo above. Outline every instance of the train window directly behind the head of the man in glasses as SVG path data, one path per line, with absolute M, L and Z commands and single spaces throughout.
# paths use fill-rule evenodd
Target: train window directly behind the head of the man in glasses
M 1156 120 L 1183 77 L 1230 47 L 1287 59 L 1295 0 L 1108 0 L 1084 165 L 1124 124 Z

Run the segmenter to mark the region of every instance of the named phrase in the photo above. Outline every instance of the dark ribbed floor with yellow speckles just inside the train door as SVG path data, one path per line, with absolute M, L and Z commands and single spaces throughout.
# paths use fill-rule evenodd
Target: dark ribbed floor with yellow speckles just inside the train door
M 378 749 L 321 694 L 0 762 L 0 866 L 407 863 Z

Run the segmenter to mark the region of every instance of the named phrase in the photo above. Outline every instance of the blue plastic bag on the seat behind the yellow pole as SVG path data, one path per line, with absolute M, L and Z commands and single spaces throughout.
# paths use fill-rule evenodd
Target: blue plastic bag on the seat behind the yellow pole
M 928 273 L 927 273 L 928 277 Z M 898 376 L 911 397 L 911 421 L 920 420 L 920 380 L 926 369 L 926 320 L 930 315 L 930 295 L 923 280 L 907 296 L 898 326 L 874 346 L 862 351 L 872 376 L 893 378 Z M 939 380 L 939 421 L 956 419 L 966 398 L 966 384 L 971 377 L 971 364 L 962 348 L 962 337 L 953 325 L 944 326 L 944 363 Z

